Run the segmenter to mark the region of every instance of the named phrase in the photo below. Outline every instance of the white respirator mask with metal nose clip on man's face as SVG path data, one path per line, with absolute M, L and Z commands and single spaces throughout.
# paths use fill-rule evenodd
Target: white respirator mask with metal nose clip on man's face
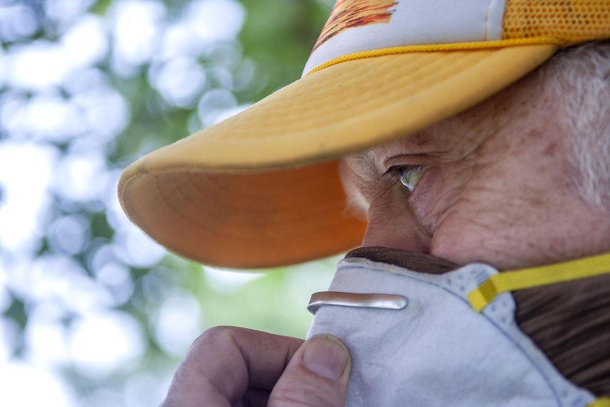
M 470 264 L 429 275 L 343 259 L 330 291 L 312 295 L 308 336 L 333 334 L 350 349 L 348 407 L 609 406 L 565 379 L 519 330 L 508 291 L 536 284 L 511 283 L 515 273 Z

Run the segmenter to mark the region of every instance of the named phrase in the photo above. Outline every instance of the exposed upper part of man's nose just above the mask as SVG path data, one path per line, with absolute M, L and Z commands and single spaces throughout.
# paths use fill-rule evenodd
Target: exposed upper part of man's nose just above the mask
M 418 225 L 405 196 L 400 195 L 379 196 L 370 203 L 362 245 L 428 253 L 430 237 Z

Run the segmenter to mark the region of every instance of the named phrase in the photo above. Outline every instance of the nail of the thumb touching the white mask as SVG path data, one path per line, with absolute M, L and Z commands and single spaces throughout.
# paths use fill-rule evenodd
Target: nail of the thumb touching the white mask
M 320 334 L 305 342 L 303 364 L 307 369 L 328 379 L 337 380 L 350 358 L 345 346 L 332 335 Z

